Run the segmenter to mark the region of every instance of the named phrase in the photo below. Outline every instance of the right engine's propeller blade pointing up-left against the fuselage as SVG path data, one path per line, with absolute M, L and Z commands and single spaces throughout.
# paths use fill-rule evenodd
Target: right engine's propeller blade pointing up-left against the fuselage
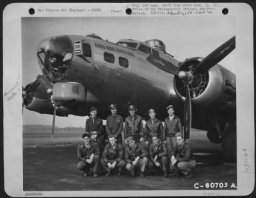
M 154 54 L 149 54 L 146 59 L 165 72 L 172 73 L 173 75 L 178 75 L 180 72 L 180 68 Z

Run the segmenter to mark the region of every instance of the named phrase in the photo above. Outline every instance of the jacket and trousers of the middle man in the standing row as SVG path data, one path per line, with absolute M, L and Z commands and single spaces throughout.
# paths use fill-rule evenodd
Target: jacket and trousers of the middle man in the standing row
M 133 118 L 125 118 L 124 139 L 134 137 L 136 143 L 140 143 L 140 138 L 144 136 L 144 129 L 141 116 L 135 115 Z

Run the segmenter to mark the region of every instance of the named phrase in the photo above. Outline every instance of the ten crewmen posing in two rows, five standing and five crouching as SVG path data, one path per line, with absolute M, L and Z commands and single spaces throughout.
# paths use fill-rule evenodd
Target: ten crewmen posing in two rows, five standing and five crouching
M 111 115 L 106 119 L 108 143 L 102 147 L 104 134 L 102 119 L 97 117 L 97 108 L 90 108 L 86 119 L 85 133 L 77 147 L 77 169 L 88 176 L 92 169 L 97 178 L 104 172 L 120 176 L 124 169 L 131 176 L 143 178 L 146 172 L 168 176 L 193 177 L 196 161 L 189 144 L 184 141 L 180 118 L 174 114 L 173 105 L 168 105 L 168 117 L 163 123 L 156 118 L 154 109 L 148 110 L 149 119 L 143 126 L 141 116 L 136 114 L 135 105 L 129 105 L 129 116 L 123 121 L 117 114 L 117 105 L 109 105 Z M 124 146 L 122 131 L 124 130 Z M 145 144 L 142 144 L 145 142 Z M 116 171 L 114 171 L 116 170 Z

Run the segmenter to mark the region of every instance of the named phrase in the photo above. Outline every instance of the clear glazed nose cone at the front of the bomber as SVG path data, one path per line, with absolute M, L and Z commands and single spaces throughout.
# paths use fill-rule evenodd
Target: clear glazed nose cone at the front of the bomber
M 70 67 L 72 52 L 72 42 L 68 36 L 54 36 L 42 40 L 36 52 L 42 73 L 52 82 L 63 79 Z

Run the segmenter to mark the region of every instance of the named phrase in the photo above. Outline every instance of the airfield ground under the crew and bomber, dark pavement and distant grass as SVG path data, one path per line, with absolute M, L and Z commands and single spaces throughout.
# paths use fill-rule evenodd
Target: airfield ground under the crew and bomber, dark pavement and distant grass
M 23 190 L 195 190 L 196 183 L 228 183 L 228 188 L 223 188 L 227 190 L 234 189 L 230 187 L 237 183 L 236 164 L 223 164 L 221 145 L 209 142 L 205 132 L 196 130 L 192 131 L 190 142 L 197 162 L 191 179 L 153 175 L 131 178 L 130 174 L 84 178 L 76 169 L 77 144 L 81 142 L 81 134 L 83 130 L 60 130 L 51 137 L 50 130 L 24 130 Z

